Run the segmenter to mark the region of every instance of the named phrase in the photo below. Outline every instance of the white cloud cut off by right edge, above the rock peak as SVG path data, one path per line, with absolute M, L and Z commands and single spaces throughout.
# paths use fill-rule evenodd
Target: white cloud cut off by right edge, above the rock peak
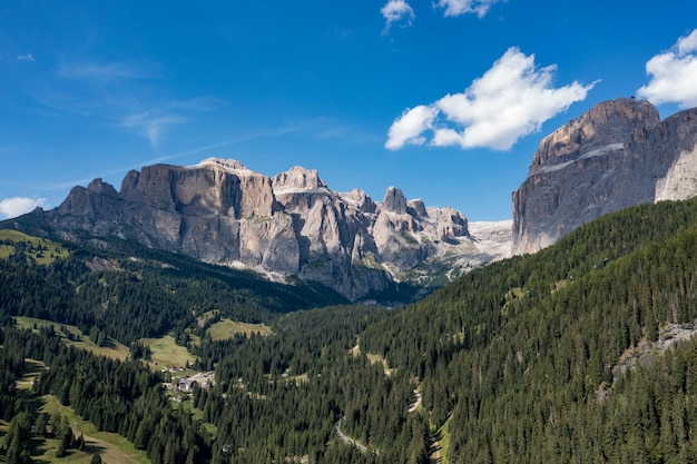
M 648 60 L 646 73 L 652 77 L 637 90 L 639 97 L 654 105 L 697 106 L 697 29 L 678 39 L 670 50 Z

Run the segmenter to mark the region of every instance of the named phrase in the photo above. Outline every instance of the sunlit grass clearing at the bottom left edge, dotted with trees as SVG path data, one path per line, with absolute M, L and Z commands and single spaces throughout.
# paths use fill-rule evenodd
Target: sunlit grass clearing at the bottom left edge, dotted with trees
M 68 417 L 72 424 L 72 432 L 76 437 L 80 434 L 85 437 L 85 452 L 69 450 L 66 457 L 56 457 L 58 440 L 46 440 L 41 450 L 43 455 L 33 456 L 39 462 L 48 463 L 86 463 L 91 460 L 91 455 L 99 453 L 101 460 L 108 464 L 149 464 L 144 451 L 136 450 L 136 446 L 125 437 L 110 432 L 99 432 L 91 422 L 84 421 L 72 408 L 61 405 L 52 395 L 41 396 L 43 406 L 41 412 L 48 414 L 58 413 Z

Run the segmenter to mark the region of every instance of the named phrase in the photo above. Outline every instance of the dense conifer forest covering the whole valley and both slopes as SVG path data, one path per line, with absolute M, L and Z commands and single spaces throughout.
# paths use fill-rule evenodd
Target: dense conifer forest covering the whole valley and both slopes
M 24 359 L 47 366 L 32 395 L 53 395 L 153 463 L 697 462 L 697 342 L 667 343 L 697 319 L 697 200 L 602 217 L 402 309 L 337 305 L 326 289 L 129 244 L 66 244 L 50 263 L 4 246 L 6 462 L 31 462 L 22 444 L 47 433 L 79 447 L 18 392 Z M 213 339 L 200 324 L 212 310 L 273 334 Z M 139 355 L 100 357 L 13 327 L 17 316 Z M 141 338 L 166 333 L 196 368 L 215 369 L 214 386 L 173 401 L 168 374 L 136 359 Z

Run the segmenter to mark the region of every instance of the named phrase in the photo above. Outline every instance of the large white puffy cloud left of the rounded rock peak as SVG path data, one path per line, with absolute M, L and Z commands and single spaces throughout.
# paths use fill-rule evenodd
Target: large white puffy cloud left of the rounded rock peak
M 430 145 L 510 149 L 548 119 L 581 101 L 595 82 L 552 87 L 556 67 L 538 68 L 534 56 L 512 47 L 462 93 L 405 111 L 390 127 L 385 148 Z

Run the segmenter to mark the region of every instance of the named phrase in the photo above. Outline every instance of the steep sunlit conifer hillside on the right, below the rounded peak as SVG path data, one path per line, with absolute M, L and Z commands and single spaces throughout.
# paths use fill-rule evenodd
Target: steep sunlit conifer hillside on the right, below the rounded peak
M 693 462 L 690 345 L 620 356 L 697 317 L 697 203 L 613 214 L 471 273 L 362 335 L 423 382 L 450 462 Z

